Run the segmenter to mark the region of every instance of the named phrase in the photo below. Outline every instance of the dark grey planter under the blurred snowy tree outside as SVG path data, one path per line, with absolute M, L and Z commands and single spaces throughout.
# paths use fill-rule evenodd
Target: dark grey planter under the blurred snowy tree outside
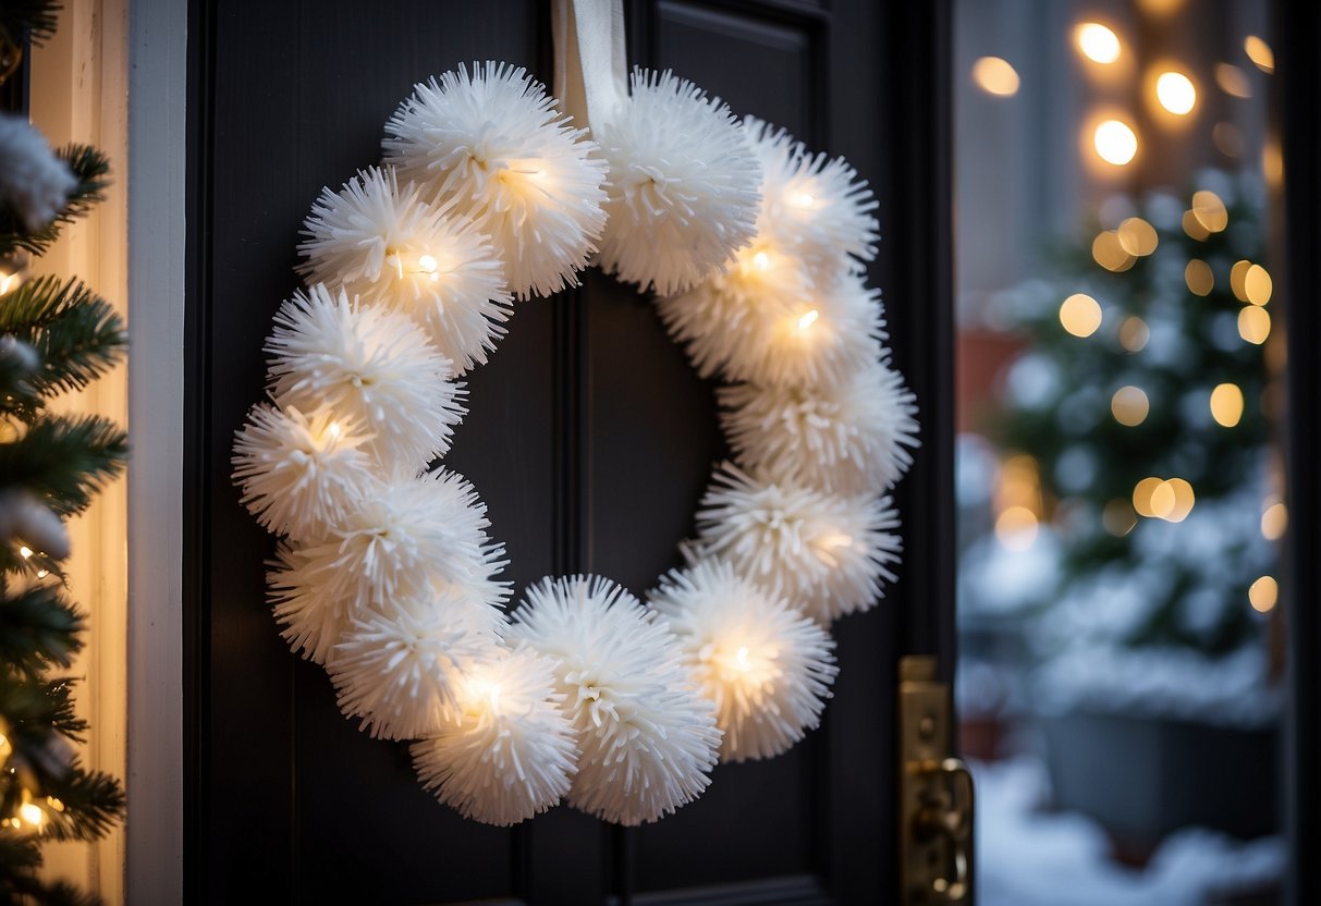
M 1073 712 L 1042 717 L 1055 806 L 1131 852 L 1199 825 L 1239 839 L 1279 829 L 1277 732 Z

